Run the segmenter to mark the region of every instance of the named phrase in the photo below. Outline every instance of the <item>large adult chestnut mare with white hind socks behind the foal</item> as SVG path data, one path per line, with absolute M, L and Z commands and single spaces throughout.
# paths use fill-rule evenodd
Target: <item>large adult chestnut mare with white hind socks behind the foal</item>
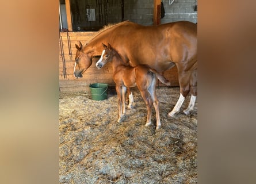
M 74 76 L 82 77 L 91 66 L 92 57 L 101 56 L 101 43 L 110 43 L 119 51 L 124 62 L 131 66 L 148 64 L 158 72 L 177 66 L 180 96 L 169 113 L 179 112 L 185 97 L 191 91 L 189 106 L 193 110 L 197 97 L 197 25 L 188 21 L 157 26 L 143 26 L 125 21 L 101 30 L 89 43 L 79 41 L 75 57 Z

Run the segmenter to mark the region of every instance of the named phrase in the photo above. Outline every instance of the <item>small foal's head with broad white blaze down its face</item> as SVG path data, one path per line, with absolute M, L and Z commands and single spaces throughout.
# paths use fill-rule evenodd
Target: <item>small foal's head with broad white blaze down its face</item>
M 117 52 L 114 51 L 110 44 L 108 44 L 107 46 L 104 43 L 102 43 L 102 46 L 104 50 L 102 51 L 101 58 L 96 63 L 97 68 L 102 68 L 106 63 L 111 62 L 113 56 L 117 54 Z

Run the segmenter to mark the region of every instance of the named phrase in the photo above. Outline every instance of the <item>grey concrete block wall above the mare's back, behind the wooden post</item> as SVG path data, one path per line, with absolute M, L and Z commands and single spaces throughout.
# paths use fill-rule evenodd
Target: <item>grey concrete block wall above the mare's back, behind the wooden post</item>
M 165 9 L 165 17 L 161 24 L 186 20 L 197 22 L 197 11 L 194 6 L 197 0 L 174 0 L 169 5 L 169 0 L 162 0 Z M 124 19 L 142 25 L 153 24 L 154 0 L 131 0 L 124 1 Z

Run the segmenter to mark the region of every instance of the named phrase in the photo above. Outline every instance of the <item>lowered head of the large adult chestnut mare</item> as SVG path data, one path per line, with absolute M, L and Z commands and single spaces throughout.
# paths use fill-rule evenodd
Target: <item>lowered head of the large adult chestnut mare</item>
M 75 78 L 82 78 L 83 73 L 91 66 L 92 59 L 90 55 L 83 52 L 83 45 L 79 41 L 79 45 L 75 44 L 77 48 L 77 53 L 75 53 L 75 67 L 74 67 L 74 76 Z

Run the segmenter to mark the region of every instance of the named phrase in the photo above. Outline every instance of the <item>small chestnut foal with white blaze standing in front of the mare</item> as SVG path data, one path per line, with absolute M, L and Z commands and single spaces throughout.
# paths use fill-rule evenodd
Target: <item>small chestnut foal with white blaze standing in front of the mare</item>
M 106 46 L 102 43 L 102 46 L 104 50 L 100 60 L 96 63 L 96 67 L 102 68 L 106 63 L 112 63 L 113 80 L 116 83 L 117 97 L 119 98 L 119 119 L 117 122 L 121 122 L 121 118 L 125 114 L 126 87 L 135 87 L 137 85 L 147 105 L 147 122 L 145 126 L 147 127 L 151 124 L 152 105 L 154 105 L 156 129 L 159 129 L 161 121 L 159 117 L 159 102 L 155 94 L 156 78 L 165 85 L 170 85 L 170 82 L 147 64 L 139 64 L 135 67 L 127 66 L 119 53 L 110 44 Z

